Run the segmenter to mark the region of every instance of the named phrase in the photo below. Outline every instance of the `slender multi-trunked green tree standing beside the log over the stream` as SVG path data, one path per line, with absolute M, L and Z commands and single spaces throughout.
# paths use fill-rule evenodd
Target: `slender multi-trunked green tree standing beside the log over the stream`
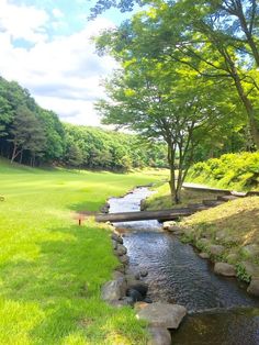
M 100 48 L 112 42 L 110 53 L 121 62 L 122 70 L 105 84 L 110 101 L 99 101 L 97 109 L 105 124 L 130 127 L 149 140 L 167 143 L 170 190 L 179 203 L 193 152 L 221 120 L 215 102 L 218 92 L 181 64 L 145 58 L 140 35 L 134 36 L 133 45 L 120 45 L 120 35 L 116 31 L 106 40 L 105 33 L 99 41 Z

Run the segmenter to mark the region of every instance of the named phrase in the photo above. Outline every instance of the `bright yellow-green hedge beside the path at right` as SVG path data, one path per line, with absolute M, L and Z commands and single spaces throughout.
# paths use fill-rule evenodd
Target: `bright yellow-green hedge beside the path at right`
M 235 190 L 259 189 L 259 152 L 226 154 L 194 164 L 188 181 Z

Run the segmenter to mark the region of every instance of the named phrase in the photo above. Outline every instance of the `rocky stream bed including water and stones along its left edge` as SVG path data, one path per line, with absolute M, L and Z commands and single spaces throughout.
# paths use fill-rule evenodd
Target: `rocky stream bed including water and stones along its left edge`
M 110 211 L 139 210 L 149 193 L 137 188 L 112 198 Z M 156 221 L 117 223 L 114 231 L 121 266 L 102 297 L 119 308 L 134 307 L 136 316 L 149 323 L 150 345 L 259 344 L 259 299 L 246 291 L 232 267 L 214 267 Z

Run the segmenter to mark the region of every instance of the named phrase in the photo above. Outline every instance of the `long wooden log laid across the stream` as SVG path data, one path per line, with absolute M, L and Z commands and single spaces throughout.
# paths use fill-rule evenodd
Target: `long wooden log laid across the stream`
M 97 214 L 97 222 L 132 222 L 132 221 L 170 221 L 179 216 L 187 216 L 194 213 L 194 210 L 189 208 L 173 209 L 173 210 L 159 210 L 159 211 L 140 211 L 140 212 L 121 212 L 109 214 Z

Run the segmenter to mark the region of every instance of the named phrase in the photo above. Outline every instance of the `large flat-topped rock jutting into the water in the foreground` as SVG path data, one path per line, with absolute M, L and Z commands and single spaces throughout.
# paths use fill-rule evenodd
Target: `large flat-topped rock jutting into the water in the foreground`
M 187 309 L 182 305 L 156 302 L 142 309 L 137 318 L 146 320 L 151 326 L 178 329 L 185 314 Z

